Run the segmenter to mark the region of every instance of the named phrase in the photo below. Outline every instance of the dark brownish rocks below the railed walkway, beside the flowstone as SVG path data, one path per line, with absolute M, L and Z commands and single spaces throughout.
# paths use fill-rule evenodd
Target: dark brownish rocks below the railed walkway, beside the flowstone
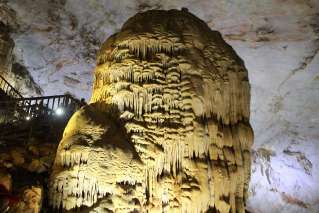
M 3 134 L 3 128 L 11 128 L 15 137 Z M 47 212 L 48 205 L 43 199 L 47 191 L 43 187 L 47 186 L 56 144 L 48 143 L 44 134 L 28 141 L 13 126 L 1 125 L 0 130 L 0 212 Z M 30 133 L 27 131 L 27 136 Z M 19 141 L 20 138 L 24 141 Z

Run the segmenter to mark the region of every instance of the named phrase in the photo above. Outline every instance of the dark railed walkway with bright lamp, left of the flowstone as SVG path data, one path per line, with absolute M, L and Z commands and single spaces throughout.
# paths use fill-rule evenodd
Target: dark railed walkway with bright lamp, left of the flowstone
M 70 95 L 23 97 L 0 75 L 0 145 L 59 138 L 81 102 Z

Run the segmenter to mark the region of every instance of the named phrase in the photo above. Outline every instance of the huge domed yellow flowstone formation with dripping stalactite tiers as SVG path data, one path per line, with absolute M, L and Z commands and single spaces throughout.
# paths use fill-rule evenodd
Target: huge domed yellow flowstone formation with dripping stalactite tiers
M 245 212 L 253 131 L 243 61 L 186 10 L 130 18 L 97 57 L 90 104 L 69 121 L 53 207 Z

